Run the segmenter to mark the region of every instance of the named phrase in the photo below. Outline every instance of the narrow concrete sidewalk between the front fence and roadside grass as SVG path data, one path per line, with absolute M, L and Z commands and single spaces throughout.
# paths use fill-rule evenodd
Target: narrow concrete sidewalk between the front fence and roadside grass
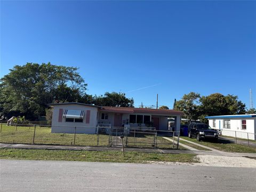
M 62 146 L 62 145 L 27 145 L 0 143 L 0 149 L 46 149 L 46 150 L 86 150 L 86 151 L 122 151 L 122 147 L 89 147 L 89 146 Z M 184 150 L 184 149 L 156 149 L 156 148 L 133 148 L 126 147 L 125 151 L 137 151 L 144 153 L 166 153 L 166 154 L 196 154 L 196 155 L 215 155 L 230 157 L 256 157 L 256 153 L 227 153 L 221 151 L 201 151 L 201 150 Z

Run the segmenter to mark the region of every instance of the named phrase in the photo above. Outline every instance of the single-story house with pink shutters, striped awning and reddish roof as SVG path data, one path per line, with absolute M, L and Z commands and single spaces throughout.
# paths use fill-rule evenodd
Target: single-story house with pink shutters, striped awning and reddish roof
M 175 131 L 180 130 L 181 111 L 132 107 L 103 107 L 84 103 L 51 103 L 52 132 L 94 134 L 97 126 L 102 127 L 155 127 L 168 130 L 167 117 L 175 117 Z

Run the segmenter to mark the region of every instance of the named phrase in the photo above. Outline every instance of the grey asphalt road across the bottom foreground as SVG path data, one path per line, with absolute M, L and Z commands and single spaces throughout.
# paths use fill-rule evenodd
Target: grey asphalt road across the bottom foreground
M 256 169 L 190 165 L 0 161 L 0 191 L 255 191 Z

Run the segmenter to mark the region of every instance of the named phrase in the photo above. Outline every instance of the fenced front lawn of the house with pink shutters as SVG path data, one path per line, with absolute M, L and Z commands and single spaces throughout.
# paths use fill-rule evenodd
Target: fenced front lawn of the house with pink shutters
M 3 124 L 0 133 L 0 142 L 32 144 L 33 137 L 33 125 L 16 127 Z M 109 146 L 109 139 L 108 134 L 76 134 L 76 138 L 74 138 L 73 133 L 51 133 L 51 127 L 49 126 L 36 126 L 34 143 L 45 145 L 74 145 L 75 140 L 75 145 L 79 146 Z M 111 138 L 113 145 L 118 140 L 116 140 L 116 137 Z M 152 133 L 138 132 L 135 133 L 134 138 L 134 133 L 131 132 L 129 137 L 127 137 L 127 141 L 127 146 L 129 147 L 155 147 L 154 134 Z M 172 149 L 173 145 L 171 141 L 157 137 L 157 147 Z M 180 148 L 184 149 L 182 147 Z

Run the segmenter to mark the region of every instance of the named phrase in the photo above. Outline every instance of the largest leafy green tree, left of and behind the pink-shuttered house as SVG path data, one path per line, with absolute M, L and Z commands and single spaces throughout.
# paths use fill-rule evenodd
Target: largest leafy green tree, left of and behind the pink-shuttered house
M 47 103 L 73 102 L 86 95 L 84 79 L 76 67 L 49 63 L 27 63 L 14 66 L 1 84 L 1 115 L 25 115 L 36 119 L 45 115 Z

